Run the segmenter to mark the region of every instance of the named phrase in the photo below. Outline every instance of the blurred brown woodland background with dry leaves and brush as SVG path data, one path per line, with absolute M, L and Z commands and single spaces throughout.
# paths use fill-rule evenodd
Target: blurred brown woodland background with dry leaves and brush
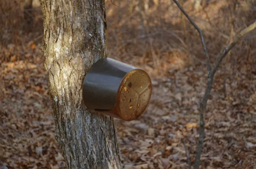
M 37 0 L 0 0 L 0 169 L 64 169 L 55 141 Z M 256 0 L 179 0 L 211 62 L 256 20 Z M 184 169 L 198 141 L 207 82 L 198 32 L 172 0 L 106 0 L 109 57 L 146 70 L 153 93 L 134 121 L 115 119 L 125 169 Z M 218 69 L 205 113 L 202 169 L 256 168 L 256 31 Z M 184 148 L 186 145 L 186 149 Z M 186 151 L 187 152 L 186 152 Z

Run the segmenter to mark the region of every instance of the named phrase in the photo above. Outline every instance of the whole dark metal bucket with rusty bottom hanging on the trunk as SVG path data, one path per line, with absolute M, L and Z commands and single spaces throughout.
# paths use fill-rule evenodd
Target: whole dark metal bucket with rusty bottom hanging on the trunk
M 96 61 L 83 83 L 83 100 L 87 109 L 125 121 L 142 115 L 151 93 L 148 73 L 110 58 Z

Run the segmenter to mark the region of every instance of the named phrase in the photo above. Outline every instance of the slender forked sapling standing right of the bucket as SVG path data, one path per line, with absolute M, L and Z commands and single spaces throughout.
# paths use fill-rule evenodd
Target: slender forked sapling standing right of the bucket
M 219 65 L 221 64 L 221 61 L 224 59 L 225 56 L 227 56 L 228 52 L 236 45 L 237 42 L 239 42 L 239 40 L 241 39 L 241 37 L 244 37 L 245 34 L 249 33 L 250 31 L 252 31 L 253 29 L 256 28 L 256 21 L 254 23 L 252 23 L 251 25 L 249 25 L 247 28 L 245 28 L 244 30 L 240 31 L 239 34 L 237 34 L 233 40 L 233 42 L 231 42 L 227 48 L 224 49 L 224 51 L 222 52 L 222 54 L 218 57 L 217 62 L 215 63 L 215 65 L 213 66 L 213 68 L 211 69 L 211 65 L 209 62 L 209 55 L 207 52 L 207 48 L 204 42 L 204 37 L 203 37 L 203 33 L 201 31 L 201 29 L 195 24 L 195 22 L 189 17 L 189 15 L 186 13 L 186 11 L 184 11 L 184 9 L 182 8 L 182 6 L 180 6 L 180 4 L 177 2 L 177 0 L 173 0 L 177 6 L 180 8 L 180 10 L 183 12 L 183 14 L 185 14 L 185 16 L 188 18 L 188 20 L 190 21 L 190 23 L 192 23 L 192 25 L 197 29 L 197 31 L 200 34 L 200 39 L 202 42 L 202 45 L 204 47 L 204 51 L 205 51 L 205 55 L 207 57 L 207 70 L 208 70 L 208 75 L 207 75 L 207 87 L 205 89 L 204 92 L 204 96 L 203 99 L 200 103 L 200 127 L 199 127 L 199 139 L 198 139 L 198 145 L 196 147 L 196 153 L 195 153 L 195 165 L 194 165 L 194 169 L 199 169 L 200 166 L 200 158 L 201 158 L 201 153 L 202 153 L 202 149 L 203 149 L 203 143 L 204 143 L 204 112 L 206 110 L 206 106 L 207 106 L 207 101 L 209 99 L 210 96 L 210 92 L 212 90 L 212 83 L 213 83 L 213 78 L 214 75 L 219 67 Z

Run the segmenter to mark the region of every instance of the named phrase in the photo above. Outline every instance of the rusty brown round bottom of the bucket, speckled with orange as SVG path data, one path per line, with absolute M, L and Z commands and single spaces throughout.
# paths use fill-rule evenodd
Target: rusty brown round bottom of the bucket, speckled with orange
M 119 86 L 116 113 L 125 121 L 140 117 L 148 106 L 151 93 L 152 84 L 148 73 L 141 69 L 132 70 Z

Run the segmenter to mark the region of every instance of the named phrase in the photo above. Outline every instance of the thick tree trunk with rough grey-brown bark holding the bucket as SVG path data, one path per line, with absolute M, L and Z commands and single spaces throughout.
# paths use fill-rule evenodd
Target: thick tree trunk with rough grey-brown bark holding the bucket
M 67 168 L 122 168 L 113 118 L 90 113 L 82 100 L 85 73 L 107 57 L 104 0 L 41 0 L 41 7 L 55 137 Z

